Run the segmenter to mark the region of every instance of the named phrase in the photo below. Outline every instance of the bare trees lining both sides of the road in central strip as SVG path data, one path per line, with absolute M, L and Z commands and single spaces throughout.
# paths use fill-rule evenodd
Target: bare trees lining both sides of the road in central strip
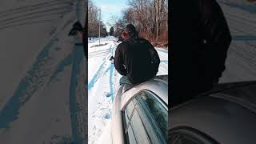
M 124 27 L 131 23 L 136 26 L 139 35 L 150 42 L 168 42 L 168 0 L 126 0 L 128 5 L 122 10 L 122 17 L 112 16 L 107 23 L 111 26 L 109 35 L 118 37 Z M 101 25 L 101 37 L 108 35 L 106 26 L 99 22 L 99 9 L 88 1 L 88 36 L 98 37 L 98 25 Z

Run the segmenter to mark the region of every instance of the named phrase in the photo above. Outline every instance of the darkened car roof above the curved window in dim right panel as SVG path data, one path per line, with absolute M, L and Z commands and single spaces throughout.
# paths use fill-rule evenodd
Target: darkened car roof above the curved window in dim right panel
M 249 96 L 241 97 L 242 93 L 238 91 L 227 91 L 229 92 L 222 91 L 195 98 L 174 107 L 170 110 L 169 129 L 188 126 L 209 135 L 219 143 L 254 143 L 254 100 L 248 103 L 251 99 Z

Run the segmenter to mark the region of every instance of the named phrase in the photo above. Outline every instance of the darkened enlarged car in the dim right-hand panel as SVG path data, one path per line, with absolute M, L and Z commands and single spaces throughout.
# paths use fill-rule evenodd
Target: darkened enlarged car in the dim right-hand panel
M 256 82 L 219 84 L 170 109 L 171 144 L 256 143 Z

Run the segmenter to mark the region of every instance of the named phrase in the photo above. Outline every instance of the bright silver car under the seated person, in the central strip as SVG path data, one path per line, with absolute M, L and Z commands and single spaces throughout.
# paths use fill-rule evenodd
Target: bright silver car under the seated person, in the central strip
M 137 86 L 119 86 L 113 102 L 112 143 L 165 144 L 167 129 L 167 75 L 156 76 Z

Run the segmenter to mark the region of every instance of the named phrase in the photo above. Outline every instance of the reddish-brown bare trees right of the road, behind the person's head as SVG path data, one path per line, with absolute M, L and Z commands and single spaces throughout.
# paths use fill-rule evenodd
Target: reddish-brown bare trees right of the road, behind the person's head
M 131 23 L 141 37 L 151 42 L 168 42 L 168 0 L 127 0 L 127 4 L 122 18 L 111 18 L 115 36 Z

